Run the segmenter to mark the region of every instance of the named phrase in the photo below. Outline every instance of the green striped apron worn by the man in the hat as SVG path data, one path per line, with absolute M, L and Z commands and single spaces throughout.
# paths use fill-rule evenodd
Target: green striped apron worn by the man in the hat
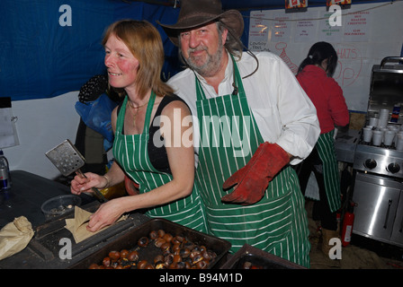
M 206 205 L 209 231 L 230 241 L 231 252 L 247 243 L 308 267 L 308 220 L 299 179 L 290 166 L 273 178 L 258 203 L 243 206 L 220 201 L 226 194 L 222 189 L 224 181 L 245 166 L 259 143 L 264 142 L 235 61 L 234 73 L 239 93 L 213 99 L 206 99 L 196 77 L 201 133 L 196 183 Z

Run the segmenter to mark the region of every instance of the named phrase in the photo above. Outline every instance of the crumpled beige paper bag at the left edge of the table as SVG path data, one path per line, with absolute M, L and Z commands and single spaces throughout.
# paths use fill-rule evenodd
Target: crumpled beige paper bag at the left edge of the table
M 32 224 L 25 216 L 17 217 L 0 230 L 0 260 L 26 248 L 33 237 Z

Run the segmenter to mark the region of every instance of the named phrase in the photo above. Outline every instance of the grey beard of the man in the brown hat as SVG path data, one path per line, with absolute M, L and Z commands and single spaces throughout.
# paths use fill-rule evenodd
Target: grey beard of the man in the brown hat
M 197 57 L 193 59 L 191 56 L 193 51 L 198 50 L 205 50 L 207 54 L 207 57 L 202 56 L 206 58 L 205 63 L 202 65 L 197 64 Z M 185 59 L 185 61 L 187 65 L 189 65 L 191 69 L 196 71 L 198 74 L 201 74 L 202 76 L 213 76 L 219 70 L 223 51 L 224 47 L 222 46 L 222 41 L 219 40 L 219 47 L 216 54 L 210 55 L 208 53 L 207 47 L 189 48 L 187 51 L 189 57 Z

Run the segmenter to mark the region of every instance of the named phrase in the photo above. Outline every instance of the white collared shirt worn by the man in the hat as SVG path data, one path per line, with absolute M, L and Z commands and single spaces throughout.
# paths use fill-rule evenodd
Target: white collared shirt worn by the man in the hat
M 246 99 L 264 141 L 279 144 L 283 150 L 294 156 L 291 164 L 298 164 L 309 155 L 320 134 L 316 109 L 280 57 L 269 52 L 255 53 L 255 56 L 259 60 L 258 70 L 242 80 Z M 234 90 L 233 64 L 231 58 L 228 59 L 218 94 L 197 74 L 207 99 L 227 95 Z M 255 71 L 255 58 L 243 53 L 237 66 L 241 77 L 245 77 Z M 185 69 L 175 74 L 168 83 L 189 105 L 193 117 L 197 117 L 194 72 Z M 200 139 L 199 129 L 195 128 L 194 133 L 197 143 Z M 197 144 L 195 152 L 197 155 Z

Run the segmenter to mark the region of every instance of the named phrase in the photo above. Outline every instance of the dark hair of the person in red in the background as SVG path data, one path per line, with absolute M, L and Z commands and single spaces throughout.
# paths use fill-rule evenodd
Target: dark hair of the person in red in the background
M 335 48 L 327 42 L 315 43 L 309 48 L 308 56 L 302 61 L 298 68 L 298 73 L 303 70 L 306 65 L 321 65 L 327 60 L 327 75 L 332 76 L 335 73 L 337 65 L 337 53 Z

